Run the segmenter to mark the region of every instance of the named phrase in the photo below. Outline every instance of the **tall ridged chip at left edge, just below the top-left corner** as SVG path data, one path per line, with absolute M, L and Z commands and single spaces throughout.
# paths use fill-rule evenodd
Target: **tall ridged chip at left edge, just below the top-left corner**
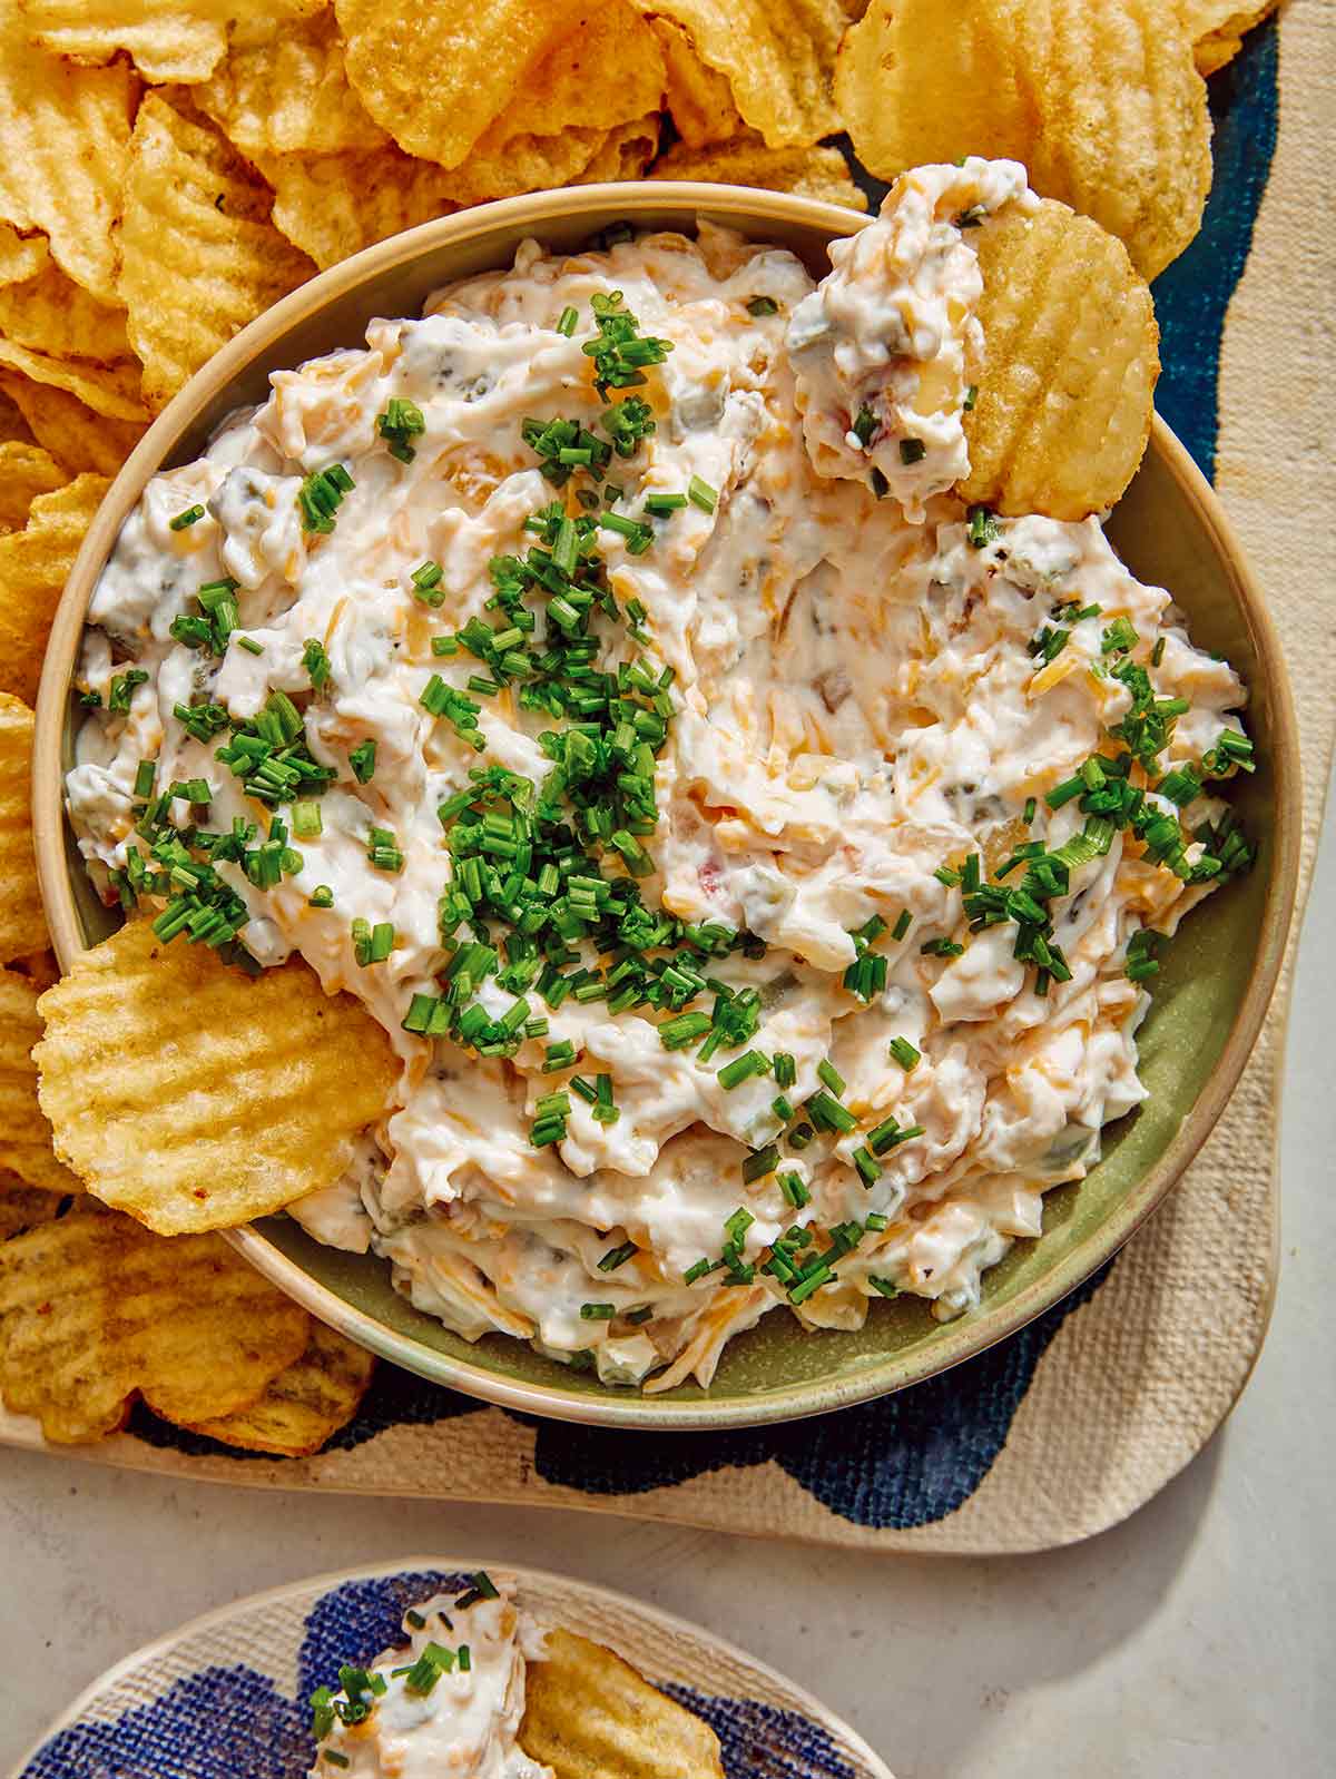
M 0 11 L 0 219 L 43 229 L 55 263 L 116 302 L 112 222 L 121 208 L 139 80 L 130 68 L 75 68 Z

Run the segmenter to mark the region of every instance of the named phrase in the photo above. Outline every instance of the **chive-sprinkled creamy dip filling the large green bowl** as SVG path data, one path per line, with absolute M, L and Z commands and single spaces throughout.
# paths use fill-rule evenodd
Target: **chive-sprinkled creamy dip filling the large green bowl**
M 393 1034 L 292 1213 L 466 1340 L 655 1389 L 783 1306 L 959 1315 L 1144 1098 L 1149 934 L 1249 863 L 1243 688 L 1096 519 L 950 491 L 1028 203 L 918 169 L 817 286 L 710 224 L 527 242 L 126 519 L 84 856 Z

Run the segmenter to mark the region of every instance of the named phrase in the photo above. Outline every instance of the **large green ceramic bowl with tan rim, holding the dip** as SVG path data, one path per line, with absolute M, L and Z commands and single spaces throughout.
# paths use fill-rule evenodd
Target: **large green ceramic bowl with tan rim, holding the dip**
M 436 286 L 509 263 L 527 235 L 571 249 L 614 221 L 690 229 L 697 215 L 792 247 L 815 276 L 827 267 L 829 240 L 866 221 L 811 199 L 719 185 L 582 187 L 487 205 L 398 235 L 313 279 L 240 333 L 165 409 L 89 530 L 43 676 L 34 822 L 64 968 L 112 923 L 62 817 L 69 678 L 93 585 L 148 479 L 162 464 L 196 457 L 228 409 L 263 400 L 270 370 L 358 345 L 375 315 L 420 313 Z M 1171 946 L 1142 1026 L 1149 1099 L 1108 1130 L 1105 1160 L 1080 1187 L 1048 1195 L 1042 1236 L 1018 1242 L 987 1274 L 975 1315 L 938 1324 L 907 1299 L 875 1304 L 857 1334 L 809 1334 L 792 1316 L 772 1315 L 728 1347 L 710 1391 L 642 1397 L 608 1389 L 503 1336 L 459 1340 L 391 1290 L 384 1261 L 320 1247 L 288 1219 L 265 1219 L 231 1240 L 315 1315 L 439 1384 L 530 1414 L 660 1430 L 793 1420 L 902 1389 L 1003 1340 L 1080 1284 L 1169 1192 L 1238 1080 L 1276 984 L 1299 866 L 1299 751 L 1276 633 L 1215 496 L 1158 422 L 1110 534 L 1135 575 L 1172 591 L 1197 642 L 1227 655 L 1243 674 L 1261 763 L 1240 781 L 1236 802 L 1258 836 L 1258 865 L 1194 913 Z

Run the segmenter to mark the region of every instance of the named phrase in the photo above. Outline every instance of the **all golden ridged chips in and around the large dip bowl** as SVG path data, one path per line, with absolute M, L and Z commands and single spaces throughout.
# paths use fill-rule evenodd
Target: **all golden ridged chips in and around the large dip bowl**
M 153 415 L 318 269 L 468 205 L 649 176 L 863 210 L 831 141 L 847 132 L 882 180 L 966 153 L 1030 169 L 1048 201 L 980 247 L 991 350 L 964 493 L 1082 516 L 1117 498 L 1146 443 L 1158 370 L 1146 279 L 1201 224 L 1203 76 L 1274 4 L 0 9 L 9 1409 L 75 1441 L 123 1425 L 142 1398 L 224 1443 L 313 1452 L 354 1413 L 372 1366 L 213 1231 L 336 1178 L 391 1091 L 379 1026 L 347 996 L 322 996 L 304 964 L 251 982 L 146 925 L 52 986 L 28 820 L 32 706 L 84 532 Z M 285 1046 L 265 1039 L 274 1030 Z

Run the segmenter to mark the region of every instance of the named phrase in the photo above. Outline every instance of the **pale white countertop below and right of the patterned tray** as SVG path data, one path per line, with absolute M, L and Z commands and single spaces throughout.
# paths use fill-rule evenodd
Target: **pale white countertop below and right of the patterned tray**
M 262 1494 L 0 1452 L 0 1772 L 101 1669 L 199 1612 L 466 1548 L 712 1626 L 802 1679 L 898 1779 L 1329 1772 L 1334 1003 L 1336 820 L 1295 982 L 1270 1338 L 1227 1427 L 1123 1526 L 1042 1557 L 868 1558 L 610 1514 Z

